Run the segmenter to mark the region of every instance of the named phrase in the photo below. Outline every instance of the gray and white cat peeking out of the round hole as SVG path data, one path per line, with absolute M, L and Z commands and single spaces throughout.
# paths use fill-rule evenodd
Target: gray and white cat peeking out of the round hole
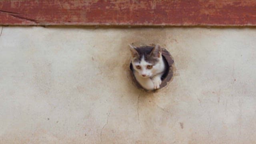
M 166 71 L 162 58 L 162 48 L 156 46 L 130 46 L 133 74 L 139 84 L 146 90 L 156 90 L 162 83 L 161 77 Z

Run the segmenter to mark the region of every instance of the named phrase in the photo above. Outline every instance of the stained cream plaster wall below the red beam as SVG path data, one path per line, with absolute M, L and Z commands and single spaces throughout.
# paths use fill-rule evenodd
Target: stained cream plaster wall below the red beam
M 0 143 L 255 143 L 255 38 L 255 28 L 4 27 Z M 136 88 L 132 42 L 170 51 L 168 87 Z

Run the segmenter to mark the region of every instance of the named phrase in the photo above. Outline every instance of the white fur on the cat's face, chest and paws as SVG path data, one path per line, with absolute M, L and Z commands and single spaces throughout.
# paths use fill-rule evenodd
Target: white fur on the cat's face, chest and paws
M 155 64 L 152 69 L 147 69 L 147 65 L 151 65 L 150 63 L 142 60 L 140 63 L 133 62 L 134 67 L 134 76 L 136 80 L 140 83 L 140 85 L 145 88 L 146 90 L 156 90 L 160 88 L 160 84 L 162 83 L 161 76 L 164 74 L 165 65 L 162 56 L 159 58 L 159 62 Z M 141 67 L 140 70 L 136 68 L 139 65 Z M 145 74 L 146 76 L 143 77 L 142 75 Z

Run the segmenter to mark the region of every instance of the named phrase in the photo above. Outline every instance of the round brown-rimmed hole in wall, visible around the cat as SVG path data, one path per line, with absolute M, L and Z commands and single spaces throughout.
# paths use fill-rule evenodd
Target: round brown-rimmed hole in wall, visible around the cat
M 140 47 L 138 47 L 138 48 L 140 48 Z M 173 60 L 170 52 L 168 52 L 168 50 L 166 50 L 165 48 L 162 48 L 162 58 L 166 64 L 166 66 L 168 66 L 168 68 L 166 68 L 166 71 L 164 72 L 164 74 L 161 77 L 162 83 L 160 84 L 160 88 L 157 90 L 153 90 L 153 92 L 156 92 L 156 91 L 161 90 L 162 88 L 165 88 L 166 86 L 168 86 L 168 84 L 171 82 L 171 80 L 173 78 L 174 60 Z M 130 74 L 132 76 L 132 80 L 135 82 L 136 86 L 140 89 L 146 90 L 136 80 L 136 78 L 133 74 L 134 69 L 132 66 L 132 62 L 130 62 L 130 70 L 131 70 Z M 151 92 L 150 90 L 146 90 L 146 91 Z

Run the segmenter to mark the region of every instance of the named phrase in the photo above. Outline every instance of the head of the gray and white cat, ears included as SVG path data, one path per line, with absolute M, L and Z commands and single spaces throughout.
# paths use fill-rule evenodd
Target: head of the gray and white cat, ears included
M 139 75 L 143 78 L 149 78 L 156 74 L 157 64 L 162 59 L 162 49 L 156 46 L 130 46 L 132 54 L 132 65 Z

